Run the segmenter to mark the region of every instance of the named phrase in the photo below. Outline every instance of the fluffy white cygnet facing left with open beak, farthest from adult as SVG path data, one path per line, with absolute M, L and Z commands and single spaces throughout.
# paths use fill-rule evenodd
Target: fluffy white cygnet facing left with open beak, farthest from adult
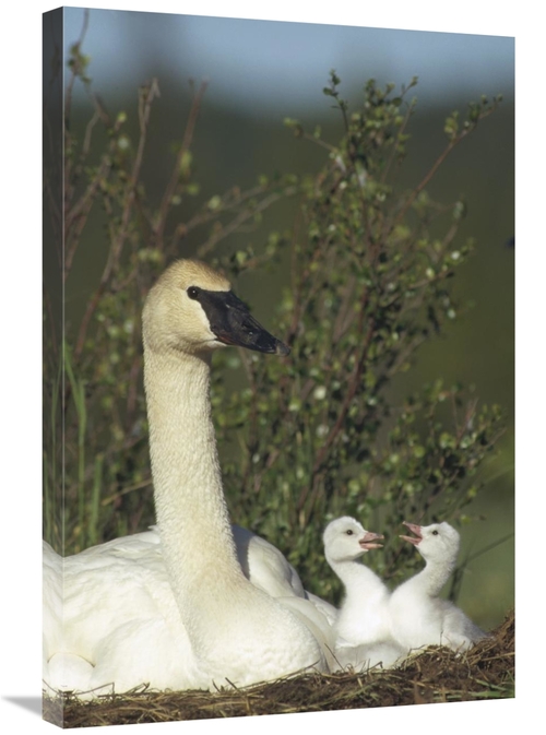
M 438 595 L 455 568 L 460 535 L 449 523 L 417 525 L 404 522 L 425 568 L 402 583 L 389 605 L 391 633 L 408 653 L 426 645 L 465 651 L 487 637 L 456 605 Z

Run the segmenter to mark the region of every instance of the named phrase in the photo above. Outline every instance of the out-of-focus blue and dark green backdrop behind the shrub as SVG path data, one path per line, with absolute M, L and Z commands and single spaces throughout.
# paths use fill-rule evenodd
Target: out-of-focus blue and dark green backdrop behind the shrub
M 83 10 L 64 10 L 64 54 L 83 25 Z M 483 471 L 487 484 L 473 508 L 484 520 L 463 531 L 462 555 L 476 558 L 468 565 L 459 598 L 478 624 L 498 624 L 513 604 L 514 589 L 513 39 L 92 10 L 82 51 L 92 58 L 93 88 L 112 114 L 123 109 L 134 120 L 138 86 L 152 76 L 158 79 L 162 96 L 152 114 L 144 167 L 152 197 L 154 187 L 164 189 L 171 144 L 183 133 L 190 107 L 188 79 L 197 84 L 209 80 L 192 146 L 200 193 L 195 202 L 180 206 L 181 222 L 199 202 L 234 185 L 248 188 L 259 174 L 320 168 L 320 151 L 296 140 L 283 119 L 297 118 L 310 129 L 320 125 L 323 139 L 336 141 L 341 116 L 321 92 L 332 68 L 349 103 L 358 99 L 369 78 L 400 86 L 419 76 L 417 114 L 408 129 L 412 141 L 401 181 L 407 187 L 423 178 L 441 152 L 449 112 L 464 112 L 466 104 L 482 94 L 503 95 L 500 109 L 463 141 L 428 187 L 436 200 L 446 203 L 464 194 L 468 214 L 460 238 L 472 235 L 477 248 L 458 274 L 455 294 L 461 308 L 471 308 L 446 336 L 427 344 L 415 368 L 393 386 L 394 398 L 402 398 L 437 377 L 447 383 L 461 380 L 474 384 L 480 400 L 499 403 L 507 412 L 507 432 Z M 74 125 L 83 129 L 91 114 L 91 103 L 76 88 Z M 237 244 L 252 244 L 259 251 L 270 230 L 290 228 L 295 211 L 296 202 L 273 206 L 260 227 L 235 236 Z M 201 236 L 191 234 L 179 254 L 192 254 Z M 106 253 L 102 222 L 90 226 L 85 237 L 67 291 L 67 313 L 74 319 L 100 275 Z M 226 240 L 223 247 L 230 246 Z M 280 271 L 275 277 L 241 278 L 237 284 L 265 323 L 285 275 Z

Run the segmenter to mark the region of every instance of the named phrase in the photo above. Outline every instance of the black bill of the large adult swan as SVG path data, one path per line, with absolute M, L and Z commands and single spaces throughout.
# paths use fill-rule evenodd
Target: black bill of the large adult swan
M 206 313 L 211 331 L 218 342 L 271 355 L 289 354 L 290 348 L 263 329 L 232 291 L 200 288 L 197 300 Z

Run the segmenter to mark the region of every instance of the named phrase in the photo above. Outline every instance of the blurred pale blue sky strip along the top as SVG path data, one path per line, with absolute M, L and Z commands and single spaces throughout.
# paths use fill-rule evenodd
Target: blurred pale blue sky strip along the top
M 83 17 L 67 9 L 66 51 Z M 330 69 L 345 90 L 418 75 L 420 105 L 513 97 L 514 39 L 502 36 L 92 10 L 83 50 L 102 93 L 166 73 L 206 78 L 210 102 L 257 115 L 323 105 Z

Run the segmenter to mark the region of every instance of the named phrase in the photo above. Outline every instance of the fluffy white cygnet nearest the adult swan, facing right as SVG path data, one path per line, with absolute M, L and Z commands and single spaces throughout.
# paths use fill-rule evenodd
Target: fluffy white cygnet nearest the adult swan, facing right
M 390 632 L 390 591 L 360 561 L 370 549 L 381 547 L 377 542 L 382 538 L 348 515 L 331 521 L 324 530 L 324 556 L 345 590 L 335 624 L 335 655 L 342 667 L 388 667 L 404 653 Z

